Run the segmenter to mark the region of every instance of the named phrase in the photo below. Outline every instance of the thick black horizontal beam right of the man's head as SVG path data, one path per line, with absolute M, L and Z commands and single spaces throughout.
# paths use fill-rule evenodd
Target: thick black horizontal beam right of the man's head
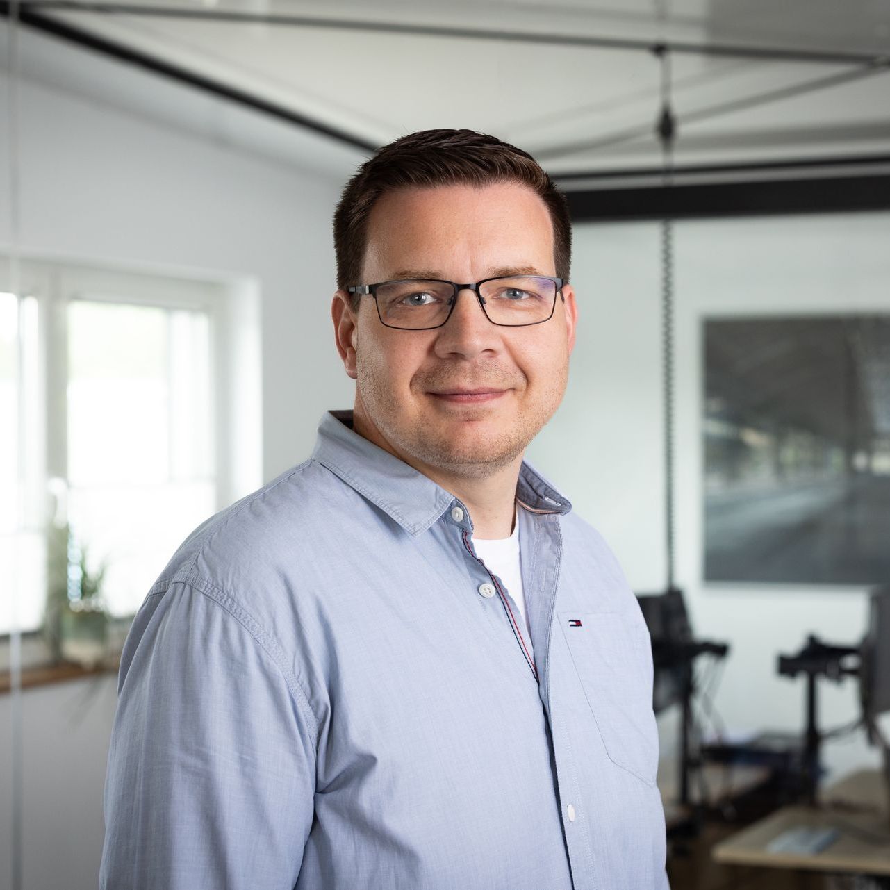
M 890 210 L 890 175 L 570 191 L 574 223 Z

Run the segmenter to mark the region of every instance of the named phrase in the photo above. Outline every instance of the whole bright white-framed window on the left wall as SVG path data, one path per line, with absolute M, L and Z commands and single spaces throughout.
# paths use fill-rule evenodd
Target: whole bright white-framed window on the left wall
M 69 523 L 88 570 L 105 569 L 103 599 L 124 617 L 182 539 L 243 493 L 220 434 L 235 291 L 52 263 L 20 277 L 20 296 L 0 293 L 0 562 L 13 566 L 0 633 L 43 623 L 53 523 Z

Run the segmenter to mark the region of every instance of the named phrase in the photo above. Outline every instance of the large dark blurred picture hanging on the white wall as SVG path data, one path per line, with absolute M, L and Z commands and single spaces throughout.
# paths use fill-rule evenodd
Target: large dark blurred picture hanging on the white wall
M 890 581 L 890 315 L 704 322 L 706 581 Z

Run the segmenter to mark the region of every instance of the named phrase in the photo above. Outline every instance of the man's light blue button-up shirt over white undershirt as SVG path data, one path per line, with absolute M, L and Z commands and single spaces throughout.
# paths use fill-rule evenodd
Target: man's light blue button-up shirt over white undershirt
M 101 887 L 667 887 L 640 609 L 528 464 L 516 498 L 532 646 L 465 504 L 349 412 L 192 532 L 121 659 Z

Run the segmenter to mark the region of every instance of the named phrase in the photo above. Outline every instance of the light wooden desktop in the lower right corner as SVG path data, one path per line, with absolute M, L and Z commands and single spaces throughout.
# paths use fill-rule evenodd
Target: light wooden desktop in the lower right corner
M 890 876 L 890 817 L 883 773 L 851 773 L 822 791 L 820 802 L 818 809 L 782 807 L 715 845 L 712 858 L 731 865 Z M 774 837 L 798 825 L 830 826 L 837 828 L 840 836 L 817 854 L 771 853 L 766 849 Z

